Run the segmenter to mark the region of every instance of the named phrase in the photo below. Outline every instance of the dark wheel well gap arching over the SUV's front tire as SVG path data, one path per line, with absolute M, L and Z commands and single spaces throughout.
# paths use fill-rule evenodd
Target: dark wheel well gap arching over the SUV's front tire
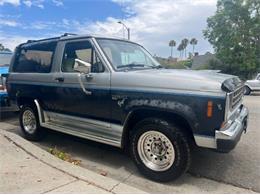
M 141 121 L 145 118 L 150 118 L 150 117 L 162 118 L 167 121 L 173 122 L 180 127 L 183 127 L 183 130 L 185 130 L 185 133 L 189 136 L 189 138 L 192 141 L 195 142 L 194 137 L 193 137 L 192 128 L 191 128 L 190 124 L 188 123 L 188 121 L 183 116 L 173 113 L 173 112 L 141 109 L 141 110 L 136 110 L 136 111 L 132 112 L 126 121 L 126 124 L 124 125 L 122 148 L 124 148 L 124 149 L 129 148 L 128 146 L 130 143 L 131 133 L 134 133 L 133 127 L 139 121 Z

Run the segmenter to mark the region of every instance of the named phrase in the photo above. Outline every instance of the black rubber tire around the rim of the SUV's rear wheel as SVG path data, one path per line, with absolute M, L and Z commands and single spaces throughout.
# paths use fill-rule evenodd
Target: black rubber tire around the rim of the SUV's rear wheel
M 31 132 L 26 130 L 25 124 L 23 122 L 25 112 L 32 113 L 35 117 L 35 130 L 33 130 Z M 39 117 L 38 117 L 37 109 L 35 106 L 23 105 L 20 110 L 19 121 L 20 121 L 20 126 L 22 129 L 22 132 L 26 139 L 28 139 L 30 141 L 39 141 L 44 137 L 45 133 L 44 133 L 43 128 L 40 126 Z

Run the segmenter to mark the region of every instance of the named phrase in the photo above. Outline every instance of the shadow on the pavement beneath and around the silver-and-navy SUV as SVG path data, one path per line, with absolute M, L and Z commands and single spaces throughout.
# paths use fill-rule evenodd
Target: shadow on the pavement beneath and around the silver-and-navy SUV
M 2 117 L 1 121 L 3 120 L 7 123 L 11 121 L 11 124 L 18 125 L 17 116 L 17 113 L 10 113 Z M 10 129 L 10 131 L 23 136 L 20 127 L 15 127 L 14 129 Z M 167 192 L 170 193 L 173 187 L 180 187 L 187 183 L 191 185 L 196 183 L 194 185 L 198 185 L 197 187 L 199 187 L 200 181 L 194 180 L 194 177 L 208 178 L 246 188 L 248 186 L 254 187 L 256 185 L 255 183 L 257 183 L 248 183 L 251 180 L 247 173 L 251 173 L 252 170 L 250 166 L 246 166 L 245 158 L 241 157 L 240 152 L 245 146 L 231 151 L 228 154 L 217 153 L 208 149 L 194 148 L 192 149 L 192 164 L 188 173 L 175 181 L 162 184 L 144 178 L 144 176 L 138 172 L 130 156 L 119 148 L 48 129 L 46 129 L 46 131 L 46 137 L 40 142 L 33 142 L 35 145 L 45 151 L 48 151 L 49 148 L 56 147 L 71 155 L 73 159 L 81 160 L 79 166 L 83 168 L 121 182 L 127 180 L 135 187 L 139 187 L 139 185 L 142 187 L 144 187 L 144 185 L 149 186 L 151 192 L 166 193 L 166 191 L 160 191 L 162 186 L 164 186 L 169 190 Z M 241 170 L 241 167 L 245 170 Z M 246 185 L 241 185 L 244 183 Z M 142 190 L 146 190 L 146 188 L 144 187 Z

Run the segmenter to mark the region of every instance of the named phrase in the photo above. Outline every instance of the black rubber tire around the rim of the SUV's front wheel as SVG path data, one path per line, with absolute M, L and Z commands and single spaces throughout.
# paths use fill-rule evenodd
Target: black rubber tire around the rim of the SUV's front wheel
M 138 140 L 144 133 L 150 130 L 156 130 L 165 135 L 174 147 L 175 158 L 173 164 L 167 170 L 155 171 L 150 169 L 140 158 L 138 153 Z M 131 136 L 131 140 L 132 158 L 139 171 L 151 180 L 159 182 L 174 180 L 185 173 L 190 166 L 191 154 L 188 136 L 184 133 L 184 131 L 181 131 L 178 126 L 169 123 L 166 120 L 157 118 L 147 118 L 142 120 L 135 126 L 134 134 Z

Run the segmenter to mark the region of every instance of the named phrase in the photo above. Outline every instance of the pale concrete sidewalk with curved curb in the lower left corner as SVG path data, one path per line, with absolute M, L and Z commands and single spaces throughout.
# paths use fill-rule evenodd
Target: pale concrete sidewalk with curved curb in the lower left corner
M 64 162 L 0 129 L 0 193 L 145 193 Z

